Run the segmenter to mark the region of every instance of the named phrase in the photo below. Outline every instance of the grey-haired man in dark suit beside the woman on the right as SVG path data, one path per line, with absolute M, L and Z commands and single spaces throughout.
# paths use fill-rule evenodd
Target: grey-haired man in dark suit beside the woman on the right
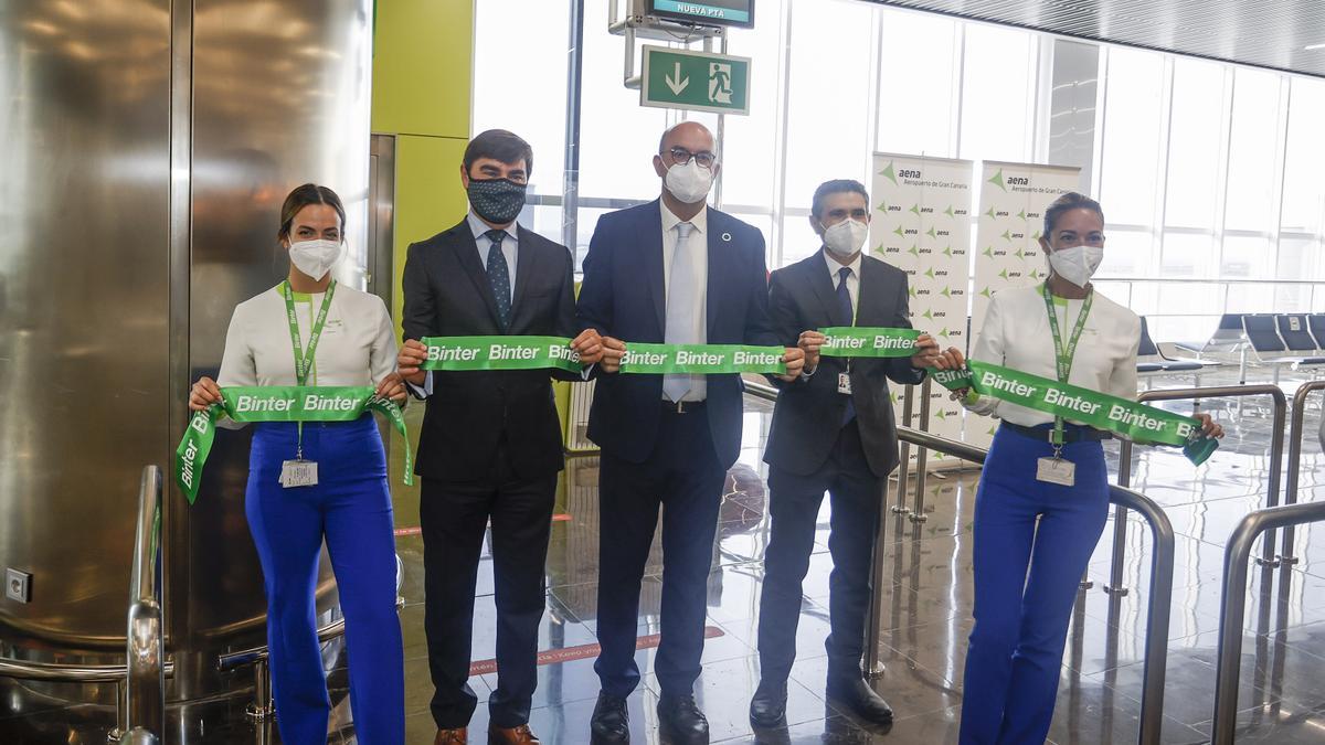
M 929 334 L 910 358 L 843 359 L 819 350 L 825 326 L 910 327 L 906 273 L 864 256 L 869 196 L 853 180 L 822 184 L 810 223 L 823 249 L 772 273 L 768 312 L 778 334 L 806 350 L 800 379 L 782 386 L 772 414 L 768 463 L 771 538 L 759 603 L 761 683 L 750 703 L 755 726 L 786 724 L 787 676 L 796 655 L 800 582 L 810 569 L 819 505 L 832 498 L 828 547 L 832 631 L 828 700 L 872 724 L 892 709 L 865 681 L 865 615 L 869 571 L 882 505 L 882 480 L 897 467 L 897 428 L 888 379 L 920 383 L 938 354 Z

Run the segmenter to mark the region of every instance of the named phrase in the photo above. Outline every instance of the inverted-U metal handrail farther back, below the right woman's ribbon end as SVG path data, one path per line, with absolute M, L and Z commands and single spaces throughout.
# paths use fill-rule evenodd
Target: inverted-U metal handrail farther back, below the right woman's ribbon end
M 1268 383 L 1256 386 L 1212 386 L 1208 388 L 1167 388 L 1158 391 L 1143 391 L 1137 396 L 1138 402 L 1151 400 L 1185 400 L 1185 399 L 1220 399 L 1268 395 L 1275 400 L 1275 422 L 1272 439 L 1269 441 L 1269 490 L 1265 496 L 1265 506 L 1279 504 L 1279 475 L 1284 465 L 1284 419 L 1288 414 L 1288 399 L 1279 386 Z M 1132 440 L 1122 440 L 1118 448 L 1118 485 L 1132 485 Z M 1128 589 L 1122 586 L 1122 554 L 1128 542 L 1128 510 L 1117 508 L 1113 516 L 1113 562 L 1109 567 L 1109 583 L 1104 591 L 1116 595 L 1126 595 Z M 1276 566 L 1275 537 L 1265 540 L 1264 557 L 1256 559 L 1263 566 Z

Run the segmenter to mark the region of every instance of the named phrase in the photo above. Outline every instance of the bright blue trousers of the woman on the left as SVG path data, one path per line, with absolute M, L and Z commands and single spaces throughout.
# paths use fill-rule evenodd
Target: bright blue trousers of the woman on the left
M 355 733 L 364 745 L 401 745 L 404 648 L 382 437 L 372 415 L 305 424 L 303 457 L 317 461 L 318 484 L 286 489 L 278 477 L 281 463 L 294 457 L 295 427 L 257 426 L 245 497 L 266 587 L 272 693 L 281 741 L 327 741 L 331 707 L 314 618 L 318 555 L 326 540 L 344 612 Z

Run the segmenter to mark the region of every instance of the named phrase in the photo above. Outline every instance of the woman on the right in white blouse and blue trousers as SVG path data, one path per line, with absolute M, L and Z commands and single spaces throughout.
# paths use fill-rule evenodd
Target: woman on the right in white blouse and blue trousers
M 971 358 L 1136 400 L 1141 319 L 1090 285 L 1104 256 L 1100 204 L 1064 194 L 1044 212 L 1040 244 L 1048 280 L 994 296 Z M 945 358 L 950 369 L 965 365 L 955 350 Z M 1100 441 L 1109 433 L 991 396 L 958 395 L 970 411 L 1002 419 L 975 496 L 975 627 L 961 742 L 1044 742 L 1077 583 L 1108 516 Z M 1200 418 L 1207 435 L 1223 436 L 1210 415 Z M 1043 472 L 1040 461 L 1055 456 L 1057 468 Z

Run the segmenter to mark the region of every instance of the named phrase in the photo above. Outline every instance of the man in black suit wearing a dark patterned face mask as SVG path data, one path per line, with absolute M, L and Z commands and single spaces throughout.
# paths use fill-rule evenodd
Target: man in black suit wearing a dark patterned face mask
M 574 260 L 564 245 L 515 224 L 533 171 L 529 144 L 489 130 L 460 171 L 470 212 L 412 244 L 404 270 L 400 372 L 428 399 L 415 472 L 423 477 L 428 664 L 436 744 L 466 742 L 474 583 L 492 521 L 498 684 L 489 742 L 538 742 L 529 709 L 538 681 L 538 624 L 562 430 L 547 370 L 424 372 L 423 337 L 575 335 Z M 591 365 L 596 331 L 572 346 Z M 556 372 L 566 379 L 576 375 Z M 416 390 L 417 392 L 417 390 Z

